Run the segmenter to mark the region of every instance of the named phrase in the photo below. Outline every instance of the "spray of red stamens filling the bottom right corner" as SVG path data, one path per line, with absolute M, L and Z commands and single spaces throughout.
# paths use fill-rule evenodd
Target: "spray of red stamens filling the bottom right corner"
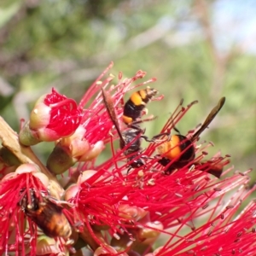
M 253 255 L 256 238 L 255 202 L 251 201 L 247 207 L 240 209 L 241 202 L 255 190 L 246 189 L 248 172 L 239 173 L 224 183 L 219 183 L 218 187 L 214 188 L 214 197 L 218 198 L 217 204 L 212 204 L 212 207 L 209 204 L 202 204 L 198 207 L 201 216 L 204 214 L 207 219 L 197 224 L 198 227 L 195 224 L 191 232 L 186 236 L 180 236 L 177 241 L 170 239 L 169 245 L 166 243 L 159 255 Z M 236 189 L 236 192 L 230 197 L 226 192 L 232 191 L 231 189 Z M 207 193 L 207 196 L 209 195 Z M 227 200 L 226 203 L 224 199 Z M 241 213 L 234 218 L 239 209 Z M 180 228 L 184 225 L 183 222 Z M 175 236 L 177 233 L 173 234 L 173 237 Z

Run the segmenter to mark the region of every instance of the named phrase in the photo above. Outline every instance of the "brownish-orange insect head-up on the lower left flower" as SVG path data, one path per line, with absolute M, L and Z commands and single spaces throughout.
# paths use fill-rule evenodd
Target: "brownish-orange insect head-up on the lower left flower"
M 25 212 L 26 216 L 31 218 L 46 236 L 61 236 L 69 239 L 72 234 L 72 228 L 62 212 L 62 207 L 57 205 L 60 201 L 44 195 L 43 191 L 41 196 L 37 195 L 35 189 L 29 189 L 28 193 L 29 195 L 26 193 L 19 202 L 20 208 Z

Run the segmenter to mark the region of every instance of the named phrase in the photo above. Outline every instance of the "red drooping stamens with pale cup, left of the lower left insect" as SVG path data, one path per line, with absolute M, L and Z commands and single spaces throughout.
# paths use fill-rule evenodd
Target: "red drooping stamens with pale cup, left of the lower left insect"
M 38 166 L 32 164 L 20 165 L 15 172 L 10 172 L 2 178 L 0 182 L 1 255 L 11 251 L 16 255 L 25 255 L 31 251 L 31 255 L 35 255 L 37 226 L 30 219 L 28 224 L 26 223 L 20 202 L 31 188 L 36 189 L 38 195 L 41 191 L 46 191 L 48 182 L 48 178 L 39 171 Z M 32 203 L 31 198 L 28 201 Z

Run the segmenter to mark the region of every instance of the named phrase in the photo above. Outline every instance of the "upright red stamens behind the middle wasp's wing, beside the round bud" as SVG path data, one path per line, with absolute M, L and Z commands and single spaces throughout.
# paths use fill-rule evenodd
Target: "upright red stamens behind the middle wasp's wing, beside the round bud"
M 112 67 L 112 64 L 108 69 Z M 104 72 L 107 73 L 108 69 Z M 103 74 L 104 74 L 103 73 Z M 89 99 L 94 99 L 90 103 L 90 106 L 84 108 L 84 114 L 82 117 L 82 124 L 86 129 L 84 139 L 86 139 L 90 144 L 96 143 L 98 141 L 104 141 L 104 143 L 109 143 L 111 137 L 109 136 L 109 131 L 113 127 L 113 122 L 109 119 L 108 111 L 103 102 L 102 98 L 102 88 L 107 90 L 108 93 L 112 94 L 113 105 L 116 110 L 117 116 L 120 118 L 123 114 L 123 98 L 127 91 L 142 86 L 144 84 L 152 83 L 155 79 L 149 79 L 141 84 L 132 84 L 138 79 L 143 79 L 146 75 L 143 71 L 138 71 L 134 77 L 131 79 L 123 79 L 122 73 L 119 73 L 119 80 L 117 84 L 110 84 L 114 77 L 109 75 L 108 79 L 101 81 L 102 75 L 96 79 L 96 82 L 90 86 L 90 89 L 85 93 L 83 99 L 79 103 L 79 107 L 83 107 L 89 101 Z M 109 88 L 107 89 L 107 87 Z M 113 131 L 113 135 L 116 131 Z

